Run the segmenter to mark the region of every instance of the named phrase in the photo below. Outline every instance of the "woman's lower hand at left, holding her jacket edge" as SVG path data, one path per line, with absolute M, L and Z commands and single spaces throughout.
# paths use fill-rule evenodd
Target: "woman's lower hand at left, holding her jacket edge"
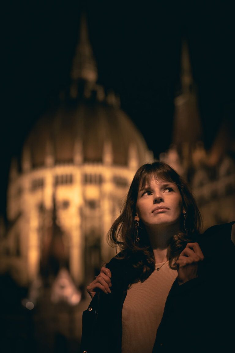
M 101 291 L 106 294 L 111 293 L 110 287 L 112 287 L 112 284 L 110 278 L 111 271 L 106 267 L 102 267 L 100 274 L 95 277 L 95 280 L 91 282 L 89 286 L 86 287 L 87 293 L 91 295 L 92 299 L 97 292 L 97 289 L 101 289 Z

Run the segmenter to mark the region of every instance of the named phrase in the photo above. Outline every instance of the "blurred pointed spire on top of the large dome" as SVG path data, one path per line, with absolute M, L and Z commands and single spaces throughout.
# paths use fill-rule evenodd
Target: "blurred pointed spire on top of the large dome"
M 80 39 L 73 59 L 71 78 L 73 81 L 83 79 L 95 83 L 98 78 L 97 66 L 89 42 L 86 15 L 83 12 L 80 19 Z

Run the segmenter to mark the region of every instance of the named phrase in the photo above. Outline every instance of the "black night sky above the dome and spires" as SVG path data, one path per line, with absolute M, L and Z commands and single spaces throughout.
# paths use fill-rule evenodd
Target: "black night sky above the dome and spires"
M 120 95 L 157 158 L 172 141 L 181 39 L 190 47 L 203 140 L 225 121 L 234 133 L 234 12 L 230 1 L 86 1 L 98 83 Z M 189 5 L 190 3 L 190 5 Z M 81 1 L 13 1 L 2 8 L 1 209 L 12 155 L 70 83 Z M 231 151 L 230 151 L 231 152 Z

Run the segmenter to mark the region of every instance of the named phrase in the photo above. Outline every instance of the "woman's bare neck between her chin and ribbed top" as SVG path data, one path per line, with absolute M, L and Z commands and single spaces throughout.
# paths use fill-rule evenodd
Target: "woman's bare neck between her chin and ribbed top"
M 171 227 L 146 227 L 150 244 L 155 257 L 155 263 L 161 263 L 168 260 L 167 247 L 169 244 L 169 240 L 173 237 L 173 235 L 179 232 L 179 229 L 180 228 L 178 224 L 172 225 Z

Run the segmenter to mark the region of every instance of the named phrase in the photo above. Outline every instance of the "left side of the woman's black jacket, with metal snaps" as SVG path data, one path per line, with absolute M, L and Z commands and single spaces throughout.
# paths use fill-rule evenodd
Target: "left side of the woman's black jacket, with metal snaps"
M 82 315 L 80 353 L 120 353 L 122 342 L 122 305 L 126 295 L 125 265 L 113 258 L 106 265 L 111 270 L 111 293 L 97 291 Z

